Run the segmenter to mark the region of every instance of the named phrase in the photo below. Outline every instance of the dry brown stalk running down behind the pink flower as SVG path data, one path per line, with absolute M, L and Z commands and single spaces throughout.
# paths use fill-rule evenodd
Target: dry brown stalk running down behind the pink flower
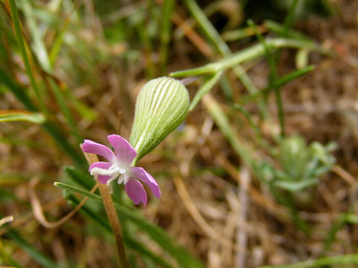
M 84 153 L 84 156 L 86 157 L 87 162 L 90 165 L 93 163 L 99 162 L 97 155 Z M 104 207 L 107 212 L 108 220 L 110 222 L 110 225 L 111 225 L 114 235 L 115 235 L 118 259 L 119 259 L 119 267 L 127 268 L 127 267 L 129 267 L 129 265 L 128 265 L 127 258 L 125 255 L 122 229 L 121 229 L 121 224 L 119 223 L 119 220 L 118 220 L 118 215 L 117 215 L 117 211 L 115 209 L 115 205 L 114 205 L 113 200 L 109 194 L 107 186 L 102 183 L 98 183 L 98 184 L 99 184 L 99 190 L 101 192 L 101 196 L 103 198 L 103 204 L 104 204 Z

